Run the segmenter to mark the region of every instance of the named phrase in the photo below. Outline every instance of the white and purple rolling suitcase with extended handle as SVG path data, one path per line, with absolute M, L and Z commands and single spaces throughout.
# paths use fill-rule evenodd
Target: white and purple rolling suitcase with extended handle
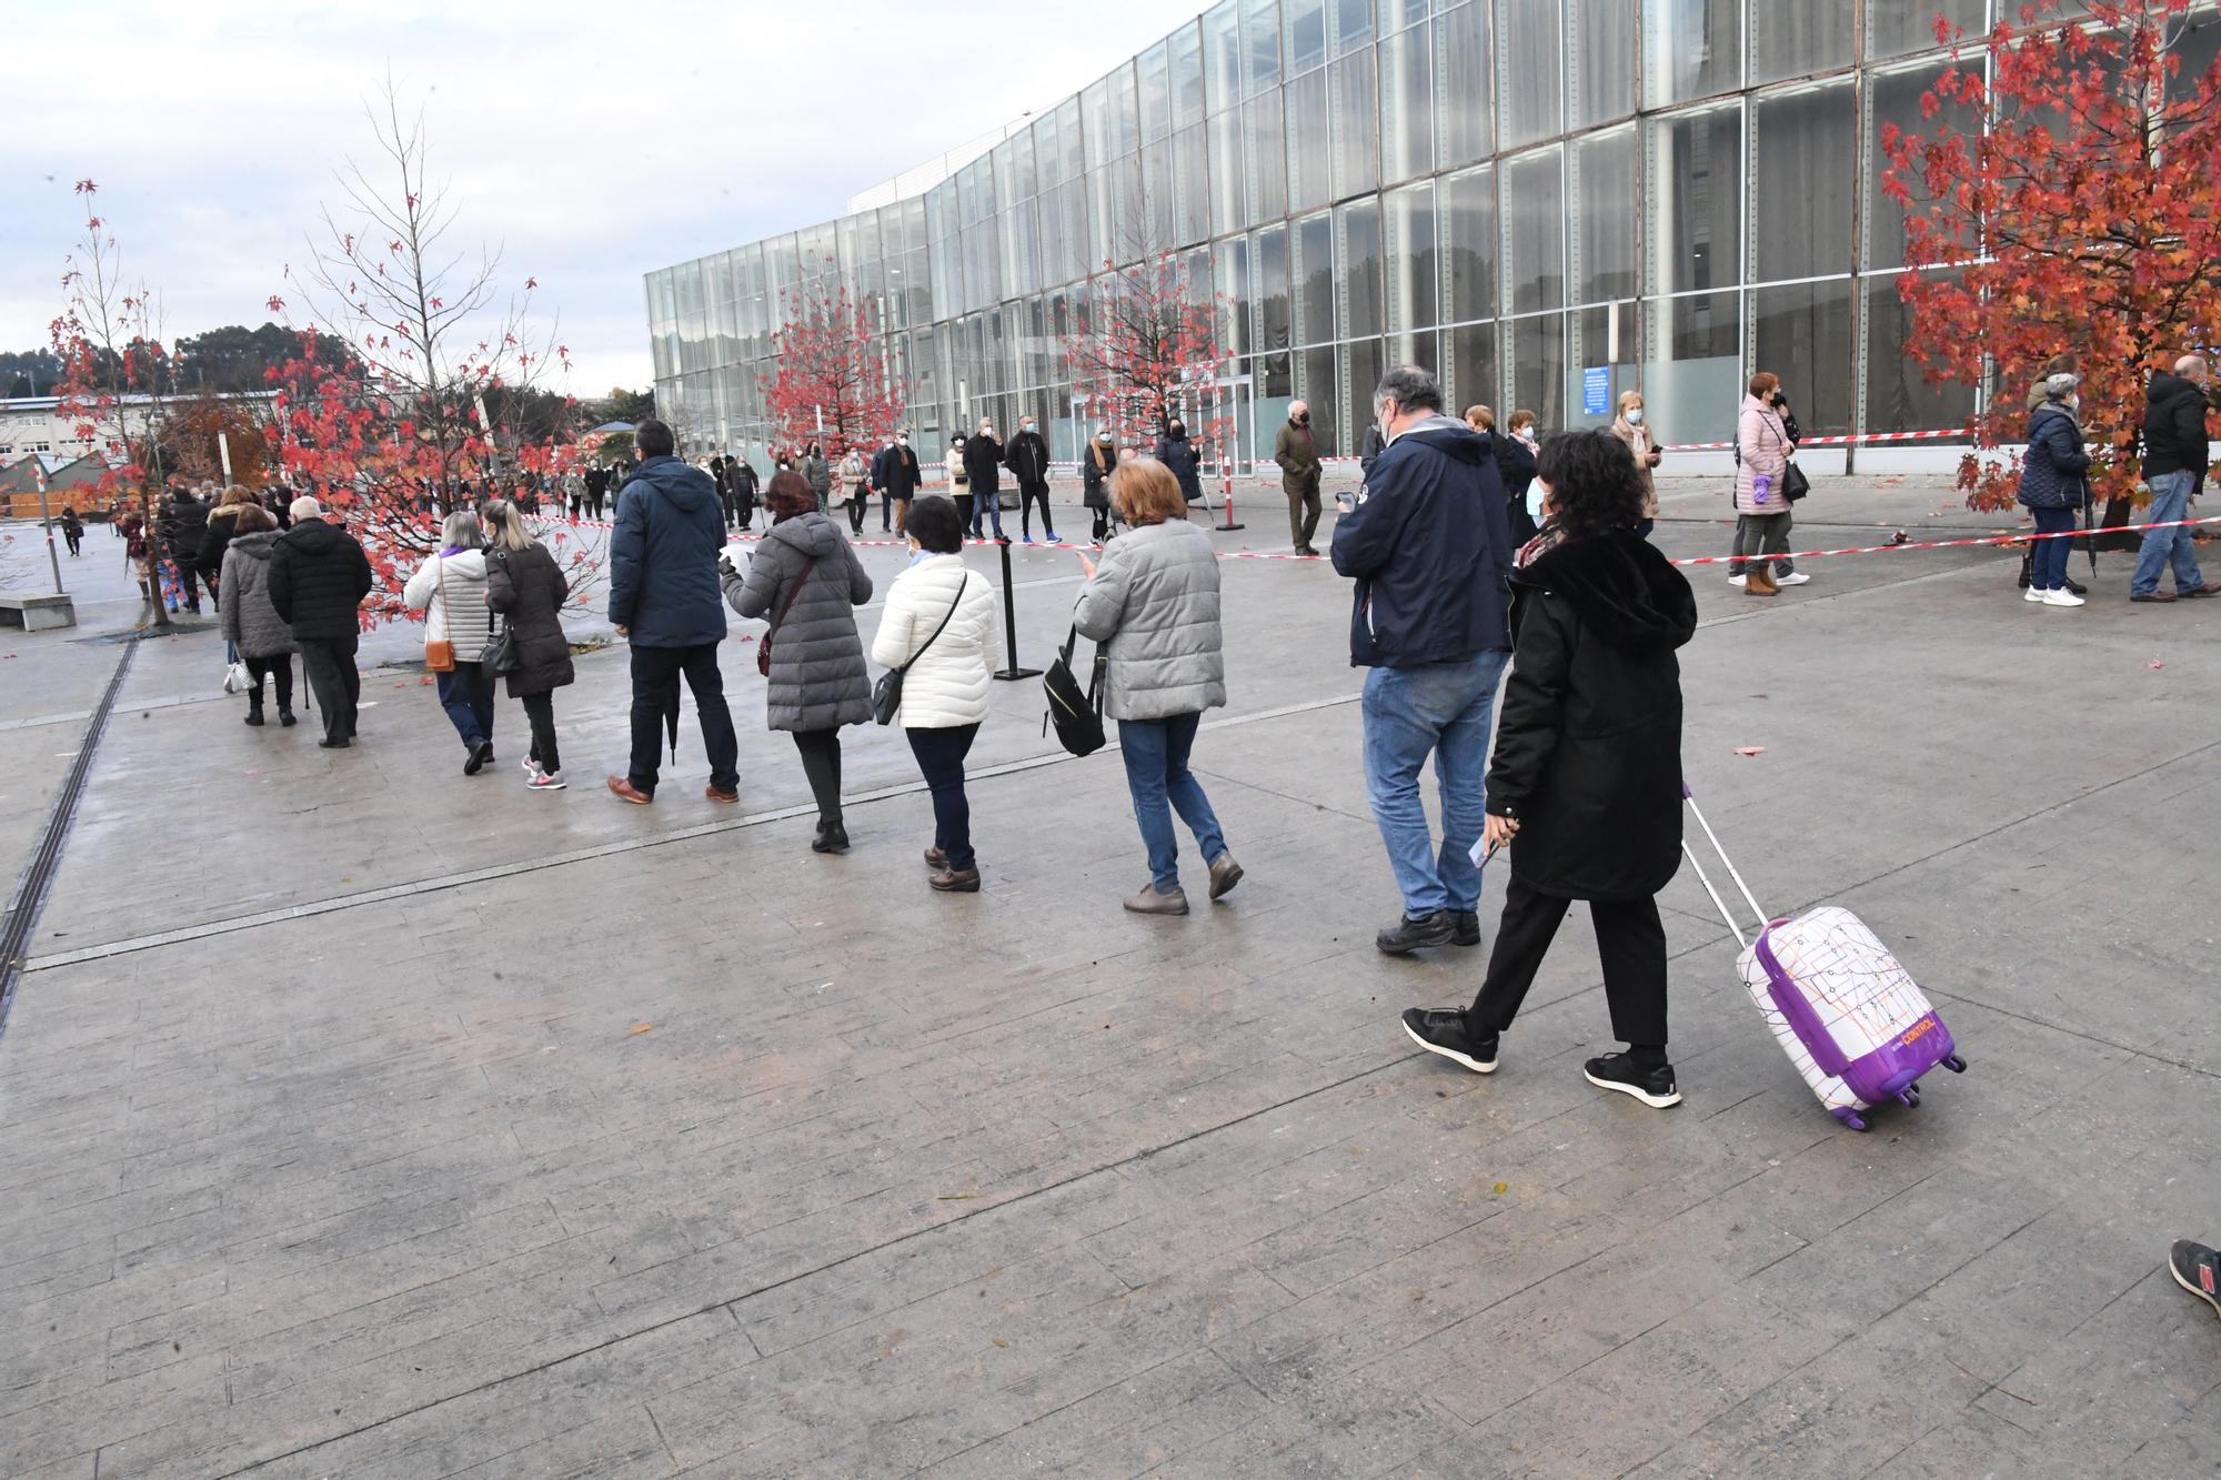
M 1943 1018 L 1859 916 L 1821 904 L 1797 918 L 1768 918 L 1728 851 L 1719 847 L 1712 824 L 1697 809 L 1697 798 L 1688 787 L 1681 796 L 1712 851 L 1719 853 L 1719 862 L 1728 867 L 1728 878 L 1750 904 L 1750 913 L 1759 918 L 1757 938 L 1746 938 L 1684 840 L 1681 851 L 1697 869 L 1697 882 L 1712 896 L 1719 918 L 1743 947 L 1735 962 L 1743 987 L 1766 1016 L 1781 1051 L 1790 1056 L 1830 1116 L 1852 1131 L 1863 1131 L 1866 1111 L 1877 1104 L 1888 1100 L 1919 1104 L 1919 1080 L 1937 1064 L 1966 1073 L 1966 1060 L 1959 1058 Z

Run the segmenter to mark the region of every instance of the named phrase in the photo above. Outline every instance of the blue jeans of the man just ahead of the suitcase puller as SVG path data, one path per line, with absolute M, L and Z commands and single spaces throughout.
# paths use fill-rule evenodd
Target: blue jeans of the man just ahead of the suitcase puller
M 1510 653 L 1490 649 L 1455 662 L 1366 673 L 1366 796 L 1410 920 L 1481 902 L 1473 844 L 1486 802 L 1488 720 L 1508 660 Z M 1428 753 L 1441 787 L 1439 851 L 1419 802 L 1419 767 Z

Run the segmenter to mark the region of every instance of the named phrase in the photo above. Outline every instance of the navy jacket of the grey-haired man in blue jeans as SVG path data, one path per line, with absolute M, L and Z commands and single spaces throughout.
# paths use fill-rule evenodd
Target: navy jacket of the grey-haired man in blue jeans
M 1510 529 L 1486 438 L 1430 416 L 1379 456 L 1366 500 L 1335 524 L 1357 578 L 1350 667 L 1455 662 L 1510 638 Z

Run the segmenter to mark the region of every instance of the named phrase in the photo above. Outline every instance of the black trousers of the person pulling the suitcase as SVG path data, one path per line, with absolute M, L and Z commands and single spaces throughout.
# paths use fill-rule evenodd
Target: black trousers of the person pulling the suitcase
M 1519 1016 L 1528 987 L 1550 953 L 1550 940 L 1572 900 L 1541 893 L 1513 876 L 1504 891 L 1504 922 L 1497 949 L 1488 953 L 1488 978 L 1466 1009 L 1475 1033 L 1501 1033 Z M 1659 902 L 1590 900 L 1597 956 L 1604 958 L 1604 1000 L 1612 1009 L 1612 1033 L 1628 1044 L 1666 1044 L 1666 927 Z

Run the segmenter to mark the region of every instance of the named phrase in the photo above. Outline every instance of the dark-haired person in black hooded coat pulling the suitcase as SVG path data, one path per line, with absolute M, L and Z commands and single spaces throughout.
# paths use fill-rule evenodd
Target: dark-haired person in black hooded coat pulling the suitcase
M 1468 1069 L 1497 1067 L 1497 1040 L 1535 982 L 1572 900 L 1588 900 L 1612 1033 L 1590 1084 L 1666 1107 L 1681 1100 L 1666 1060 L 1666 929 L 1657 891 L 1681 867 L 1681 664 L 1697 598 L 1635 533 L 1644 484 L 1606 429 L 1541 449 L 1561 540 L 1513 573 L 1513 676 L 1488 769 L 1490 849 L 1510 844 L 1504 922 L 1473 1007 L 1410 1009 L 1404 1031 Z

